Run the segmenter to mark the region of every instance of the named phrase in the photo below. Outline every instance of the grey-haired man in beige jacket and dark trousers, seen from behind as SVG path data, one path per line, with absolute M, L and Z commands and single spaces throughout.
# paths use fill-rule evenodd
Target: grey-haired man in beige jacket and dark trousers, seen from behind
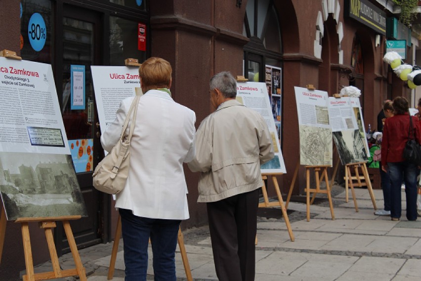
M 260 165 L 273 158 L 262 116 L 239 103 L 229 72 L 211 78 L 215 111 L 200 124 L 190 170 L 201 172 L 198 202 L 206 202 L 213 260 L 220 281 L 253 281 Z

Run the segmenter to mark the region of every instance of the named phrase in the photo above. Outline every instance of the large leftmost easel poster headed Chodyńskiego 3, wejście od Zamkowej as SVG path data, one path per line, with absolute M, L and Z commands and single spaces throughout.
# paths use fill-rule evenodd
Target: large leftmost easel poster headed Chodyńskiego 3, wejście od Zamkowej
M 0 194 L 7 220 L 87 216 L 51 65 L 0 57 Z

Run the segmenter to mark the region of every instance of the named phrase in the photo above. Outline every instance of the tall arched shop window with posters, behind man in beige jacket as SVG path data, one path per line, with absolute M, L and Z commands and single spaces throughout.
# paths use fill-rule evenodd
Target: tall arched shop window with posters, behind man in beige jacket
M 282 37 L 273 0 L 248 0 L 243 35 L 244 75 L 249 81 L 265 82 L 272 103 L 278 136 L 282 132 Z M 282 143 L 282 142 L 281 142 Z

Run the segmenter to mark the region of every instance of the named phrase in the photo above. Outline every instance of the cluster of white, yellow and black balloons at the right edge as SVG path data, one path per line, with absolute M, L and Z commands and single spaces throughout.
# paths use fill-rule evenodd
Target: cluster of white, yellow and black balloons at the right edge
M 387 52 L 383 56 L 383 61 L 390 64 L 393 72 L 403 81 L 408 81 L 408 87 L 415 89 L 421 85 L 421 67 L 418 65 L 406 64 L 402 57 L 395 51 Z

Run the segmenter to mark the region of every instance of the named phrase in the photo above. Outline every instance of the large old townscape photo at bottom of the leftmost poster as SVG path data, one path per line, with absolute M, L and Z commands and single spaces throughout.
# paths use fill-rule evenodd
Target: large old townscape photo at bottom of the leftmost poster
M 71 155 L 0 152 L 0 171 L 7 220 L 87 216 Z

